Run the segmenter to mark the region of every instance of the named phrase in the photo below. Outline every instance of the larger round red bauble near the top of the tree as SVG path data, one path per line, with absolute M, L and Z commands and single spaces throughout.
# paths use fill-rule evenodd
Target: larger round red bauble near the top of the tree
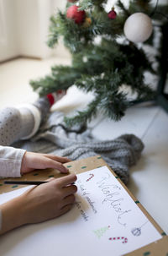
M 76 5 L 72 5 L 71 7 L 69 7 L 66 12 L 66 17 L 68 19 L 73 19 L 76 24 L 81 24 L 86 17 L 86 12 L 78 10 L 78 8 L 80 7 Z

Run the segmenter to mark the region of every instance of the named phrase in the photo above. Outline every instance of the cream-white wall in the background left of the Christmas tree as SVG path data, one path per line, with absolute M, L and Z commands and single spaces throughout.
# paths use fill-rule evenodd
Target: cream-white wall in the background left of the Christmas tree
M 50 16 L 65 8 L 66 0 L 0 0 L 0 62 L 17 56 L 50 57 L 63 53 L 47 45 Z

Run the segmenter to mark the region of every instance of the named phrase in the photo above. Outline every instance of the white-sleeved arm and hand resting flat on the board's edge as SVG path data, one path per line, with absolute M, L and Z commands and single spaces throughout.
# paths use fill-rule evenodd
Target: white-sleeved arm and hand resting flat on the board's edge
M 26 152 L 13 147 L 0 146 L 0 177 L 20 177 L 34 169 L 55 168 L 66 173 L 63 163 L 70 161 L 66 157 Z

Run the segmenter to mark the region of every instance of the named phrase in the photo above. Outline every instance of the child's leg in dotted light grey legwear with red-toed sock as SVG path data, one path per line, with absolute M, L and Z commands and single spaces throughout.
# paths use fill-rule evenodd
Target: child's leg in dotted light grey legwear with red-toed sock
M 65 95 L 63 91 L 62 96 Z M 57 96 L 57 95 L 56 95 Z M 7 107 L 0 111 L 0 144 L 11 145 L 19 139 L 31 138 L 39 129 L 40 123 L 45 119 L 50 106 L 55 100 L 61 98 L 47 95 L 39 98 L 34 104 Z

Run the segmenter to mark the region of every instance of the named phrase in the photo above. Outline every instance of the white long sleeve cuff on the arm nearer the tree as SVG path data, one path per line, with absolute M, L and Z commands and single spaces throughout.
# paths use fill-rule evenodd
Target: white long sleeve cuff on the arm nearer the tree
M 25 150 L 0 146 L 0 177 L 20 177 Z

